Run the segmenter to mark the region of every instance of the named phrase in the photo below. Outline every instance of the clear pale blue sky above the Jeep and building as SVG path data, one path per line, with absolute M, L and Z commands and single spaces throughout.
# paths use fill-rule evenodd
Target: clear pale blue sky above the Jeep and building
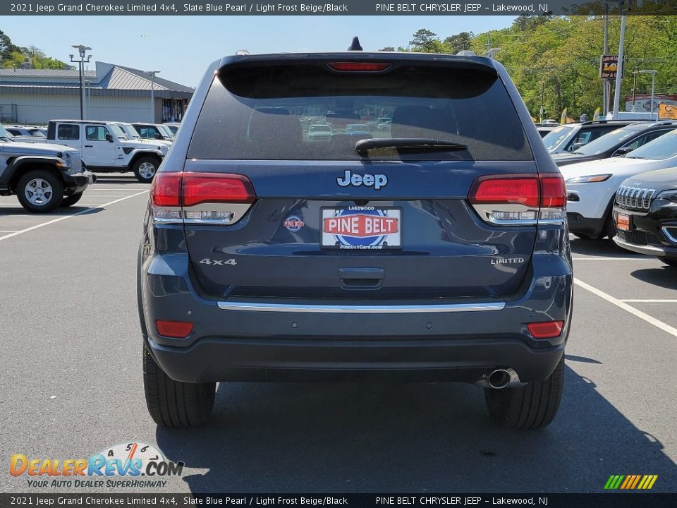
M 441 39 L 458 32 L 498 30 L 511 16 L 12 16 L 0 30 L 18 46 L 35 46 L 69 63 L 72 44 L 104 61 L 160 71 L 159 77 L 197 86 L 212 61 L 234 54 L 406 46 L 427 28 Z M 91 68 L 94 68 L 92 65 Z

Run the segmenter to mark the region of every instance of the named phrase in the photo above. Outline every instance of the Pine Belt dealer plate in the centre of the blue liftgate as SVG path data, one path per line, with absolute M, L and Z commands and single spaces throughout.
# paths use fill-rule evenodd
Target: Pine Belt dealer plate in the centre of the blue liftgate
M 400 208 L 323 208 L 321 228 L 324 248 L 385 250 L 402 246 Z

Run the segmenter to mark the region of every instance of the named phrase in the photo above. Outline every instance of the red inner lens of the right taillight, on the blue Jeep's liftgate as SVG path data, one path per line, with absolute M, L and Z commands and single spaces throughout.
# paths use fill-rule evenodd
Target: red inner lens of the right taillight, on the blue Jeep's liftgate
M 539 204 L 537 176 L 481 176 L 470 191 L 473 205 L 518 203 L 536 208 Z

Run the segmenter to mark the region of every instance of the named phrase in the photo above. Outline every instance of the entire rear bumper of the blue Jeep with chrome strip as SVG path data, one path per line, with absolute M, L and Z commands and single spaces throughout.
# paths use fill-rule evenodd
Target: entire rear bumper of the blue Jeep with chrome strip
M 143 260 L 139 282 L 146 344 L 161 368 L 183 382 L 477 382 L 495 368 L 512 368 L 523 382 L 542 380 L 563 355 L 571 320 L 571 265 L 555 254 L 534 255 L 519 294 L 458 299 L 447 308 L 439 301 L 372 302 L 373 308 L 313 301 L 305 311 L 298 301 L 219 303 L 197 294 L 188 259 L 179 254 Z M 156 320 L 191 321 L 193 332 L 162 337 Z M 565 323 L 559 337 L 537 340 L 526 329 L 550 320 Z

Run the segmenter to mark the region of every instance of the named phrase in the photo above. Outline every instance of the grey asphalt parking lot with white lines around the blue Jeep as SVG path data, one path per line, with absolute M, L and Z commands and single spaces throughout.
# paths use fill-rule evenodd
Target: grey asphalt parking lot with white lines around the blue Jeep
M 35 492 L 6 473 L 11 454 L 131 440 L 185 462 L 164 492 L 602 492 L 612 474 L 677 492 L 677 270 L 609 242 L 572 240 L 565 393 L 547 429 L 496 427 L 470 385 L 275 383 L 221 384 L 205 427 L 157 428 L 135 300 L 148 187 L 100 176 L 47 215 L 0 198 L 2 492 Z

